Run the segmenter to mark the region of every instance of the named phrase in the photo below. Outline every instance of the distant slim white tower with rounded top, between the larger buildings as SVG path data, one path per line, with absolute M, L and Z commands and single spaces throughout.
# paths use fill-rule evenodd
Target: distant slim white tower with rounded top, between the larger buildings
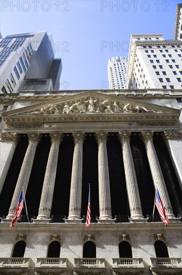
M 108 79 L 110 89 L 122 89 L 125 87 L 127 69 L 127 57 L 116 56 L 109 58 Z

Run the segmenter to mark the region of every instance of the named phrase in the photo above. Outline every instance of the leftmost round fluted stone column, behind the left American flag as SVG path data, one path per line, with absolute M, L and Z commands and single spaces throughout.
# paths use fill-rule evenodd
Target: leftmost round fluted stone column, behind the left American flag
M 17 202 L 20 197 L 22 185 L 23 185 L 24 194 L 26 193 L 26 189 L 28 186 L 28 181 L 31 173 L 31 168 L 33 165 L 33 159 L 35 156 L 35 151 L 39 140 L 40 140 L 40 134 L 38 132 L 28 133 L 29 144 L 26 149 L 21 170 L 19 172 L 19 176 L 16 182 L 16 187 L 12 196 L 11 205 L 9 207 L 9 212 L 6 218 L 13 217 L 15 208 L 17 206 Z

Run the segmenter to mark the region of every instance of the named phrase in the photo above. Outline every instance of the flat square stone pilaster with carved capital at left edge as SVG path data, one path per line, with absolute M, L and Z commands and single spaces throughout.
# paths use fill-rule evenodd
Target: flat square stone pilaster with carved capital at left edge
M 17 132 L 0 134 L 0 193 L 18 141 Z

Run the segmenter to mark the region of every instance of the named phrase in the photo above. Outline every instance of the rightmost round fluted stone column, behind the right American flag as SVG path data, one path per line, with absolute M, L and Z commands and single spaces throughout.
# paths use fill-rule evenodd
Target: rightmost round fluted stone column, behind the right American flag
M 154 143 L 153 143 L 154 132 L 149 131 L 149 130 L 143 130 L 140 135 L 145 143 L 155 189 L 156 189 L 156 186 L 159 189 L 160 196 L 163 201 L 163 206 L 166 209 L 166 213 L 167 213 L 168 217 L 173 218 L 173 217 L 175 217 L 175 215 L 173 214 L 173 210 L 172 210 L 170 198 L 168 195 L 168 191 L 166 188 L 165 180 L 163 177 L 161 166 L 159 164 L 159 159 L 158 159 L 158 156 L 156 153 L 156 149 L 155 149 Z

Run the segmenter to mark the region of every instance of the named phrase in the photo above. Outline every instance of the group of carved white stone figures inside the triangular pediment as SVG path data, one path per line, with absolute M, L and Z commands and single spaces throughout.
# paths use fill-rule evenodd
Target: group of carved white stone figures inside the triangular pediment
M 58 104 L 47 104 L 41 107 L 39 110 L 34 110 L 20 114 L 30 115 L 59 115 L 59 114 L 76 114 L 76 113 L 161 113 L 162 111 L 156 111 L 154 109 L 148 109 L 144 106 L 137 104 L 122 104 L 114 100 L 94 99 L 91 96 L 86 100 L 80 100 L 74 103 L 64 102 Z

